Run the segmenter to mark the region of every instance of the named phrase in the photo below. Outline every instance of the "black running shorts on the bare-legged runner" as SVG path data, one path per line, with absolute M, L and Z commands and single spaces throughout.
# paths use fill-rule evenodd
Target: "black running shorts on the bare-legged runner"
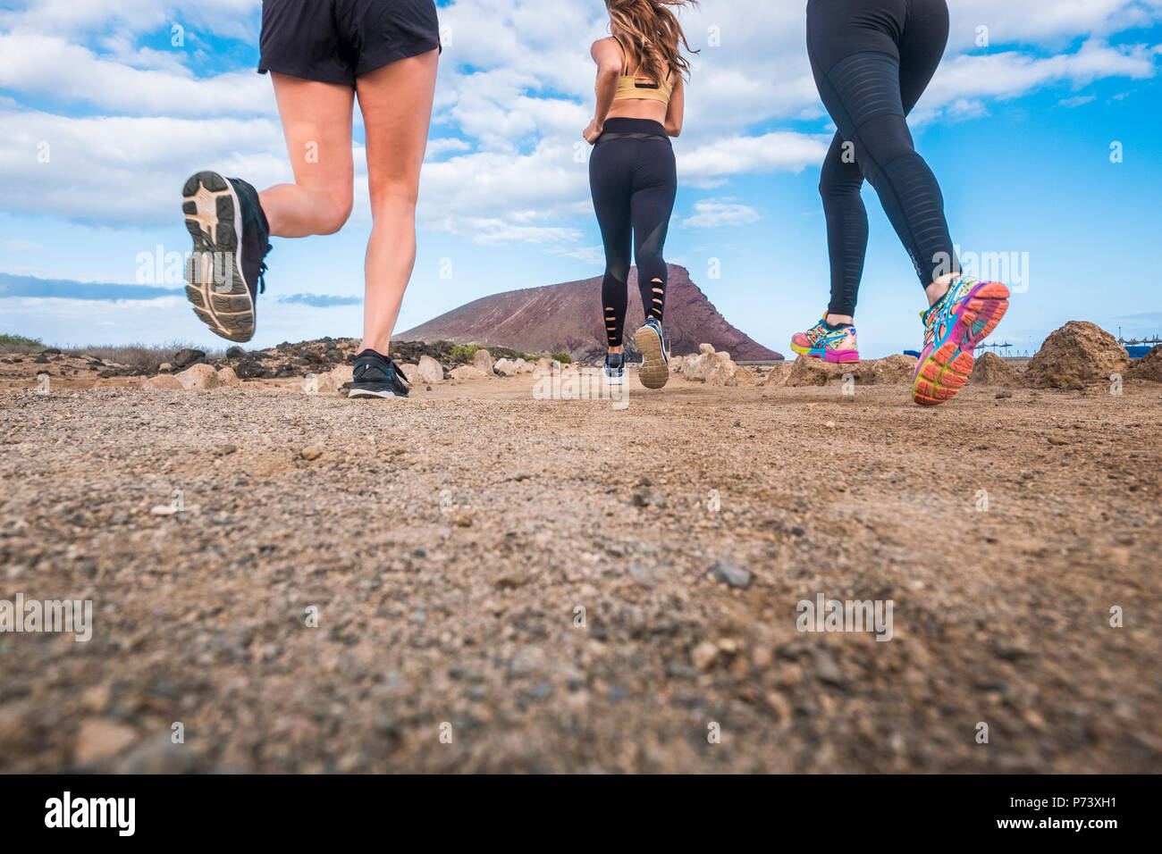
M 354 86 L 439 46 L 435 0 L 263 0 L 258 71 Z

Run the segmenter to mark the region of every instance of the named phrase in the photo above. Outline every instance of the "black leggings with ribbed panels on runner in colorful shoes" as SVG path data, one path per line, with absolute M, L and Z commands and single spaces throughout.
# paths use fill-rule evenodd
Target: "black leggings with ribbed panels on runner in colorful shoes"
M 924 287 L 960 271 L 940 185 L 916 153 L 905 121 L 947 42 L 945 0 L 808 0 L 811 71 L 839 128 L 819 182 L 832 314 L 855 314 L 868 244 L 860 199 L 865 178 L 878 193 Z

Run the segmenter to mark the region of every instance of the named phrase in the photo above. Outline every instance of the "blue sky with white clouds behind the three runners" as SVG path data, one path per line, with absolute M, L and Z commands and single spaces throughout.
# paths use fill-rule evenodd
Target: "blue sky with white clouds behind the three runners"
M 588 189 L 601 0 L 440 0 L 445 50 L 397 325 L 601 275 Z M 911 119 L 966 264 L 1013 285 L 994 337 L 1035 350 L 1070 320 L 1162 332 L 1162 0 L 949 0 L 945 62 Z M 834 125 L 803 0 L 704 0 L 667 260 L 788 353 L 829 297 L 819 165 Z M 52 344 L 221 347 L 181 296 L 181 186 L 290 178 L 258 0 L 0 0 L 0 332 Z M 253 344 L 361 331 L 371 228 L 363 128 L 338 235 L 275 238 Z M 861 352 L 919 349 L 923 292 L 875 193 Z M 971 272 L 971 271 L 970 271 Z M 42 281 L 43 280 L 43 281 Z M 637 295 L 631 295 L 637 299 Z M 596 309 L 595 309 L 596 310 Z

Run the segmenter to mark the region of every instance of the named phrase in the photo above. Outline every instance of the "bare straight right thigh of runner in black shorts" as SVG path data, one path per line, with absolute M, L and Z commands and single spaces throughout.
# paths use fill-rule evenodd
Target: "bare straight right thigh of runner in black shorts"
M 401 59 L 356 81 L 367 130 L 367 181 L 374 214 L 382 204 L 415 204 L 428 148 L 439 51 Z

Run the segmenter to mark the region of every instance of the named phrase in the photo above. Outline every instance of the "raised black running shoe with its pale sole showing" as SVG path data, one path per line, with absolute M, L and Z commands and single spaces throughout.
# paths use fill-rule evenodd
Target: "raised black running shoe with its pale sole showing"
M 248 342 L 257 324 L 254 303 L 266 290 L 271 229 L 258 192 L 241 178 L 199 172 L 186 181 L 186 229 L 194 252 L 186 263 L 186 299 L 218 335 Z

